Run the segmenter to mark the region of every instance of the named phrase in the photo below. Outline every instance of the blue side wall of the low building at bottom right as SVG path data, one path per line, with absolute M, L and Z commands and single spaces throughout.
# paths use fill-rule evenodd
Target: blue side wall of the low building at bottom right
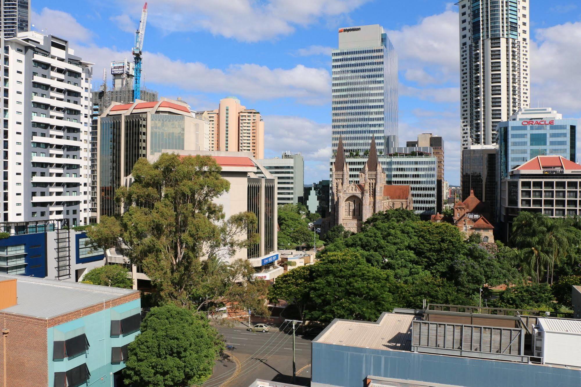
M 313 342 L 311 386 L 361 387 L 368 375 L 467 387 L 579 386 L 581 370 Z

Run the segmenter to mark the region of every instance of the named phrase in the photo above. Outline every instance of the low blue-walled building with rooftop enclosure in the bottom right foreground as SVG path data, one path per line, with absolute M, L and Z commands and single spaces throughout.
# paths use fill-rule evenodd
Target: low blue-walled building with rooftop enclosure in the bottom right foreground
M 428 304 L 373 322 L 336 318 L 313 339 L 311 386 L 579 385 L 581 320 L 545 316 Z M 539 350 L 528 345 L 533 336 Z

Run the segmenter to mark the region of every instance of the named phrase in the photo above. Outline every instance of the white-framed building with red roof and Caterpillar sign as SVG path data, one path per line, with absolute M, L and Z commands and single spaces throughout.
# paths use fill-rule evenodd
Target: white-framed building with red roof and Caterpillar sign
M 562 156 L 536 156 L 500 182 L 499 224 L 508 238 L 521 211 L 550 217 L 581 214 L 581 165 Z

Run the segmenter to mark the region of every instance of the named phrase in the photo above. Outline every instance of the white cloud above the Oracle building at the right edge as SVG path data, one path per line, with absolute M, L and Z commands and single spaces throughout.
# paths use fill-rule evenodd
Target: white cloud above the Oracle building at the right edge
M 530 45 L 531 105 L 581 113 L 581 22 L 539 28 Z

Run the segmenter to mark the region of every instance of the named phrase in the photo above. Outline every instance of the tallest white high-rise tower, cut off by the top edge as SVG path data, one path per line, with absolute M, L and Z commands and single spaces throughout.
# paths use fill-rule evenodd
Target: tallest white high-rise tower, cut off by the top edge
M 462 149 L 496 144 L 496 126 L 530 102 L 529 1 L 460 0 Z

